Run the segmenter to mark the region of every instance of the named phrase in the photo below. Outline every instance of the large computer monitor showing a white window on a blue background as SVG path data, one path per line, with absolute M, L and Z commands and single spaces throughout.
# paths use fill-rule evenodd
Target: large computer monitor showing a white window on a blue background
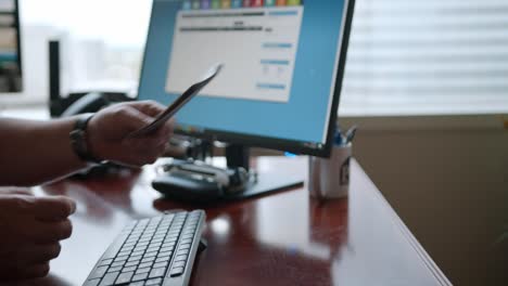
M 178 132 L 325 156 L 352 12 L 347 0 L 154 0 L 139 100 L 168 104 L 223 63 Z

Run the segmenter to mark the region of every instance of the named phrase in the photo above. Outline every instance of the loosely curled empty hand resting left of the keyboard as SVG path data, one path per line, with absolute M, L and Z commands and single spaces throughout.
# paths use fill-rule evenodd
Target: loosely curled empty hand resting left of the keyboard
M 35 197 L 21 188 L 0 190 L 0 281 L 46 276 L 71 236 L 76 210 L 66 197 Z

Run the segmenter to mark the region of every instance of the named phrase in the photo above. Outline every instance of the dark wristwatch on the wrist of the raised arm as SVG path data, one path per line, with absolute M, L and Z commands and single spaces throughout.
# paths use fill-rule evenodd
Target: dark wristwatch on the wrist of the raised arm
M 71 131 L 71 146 L 73 147 L 74 153 L 85 162 L 90 165 L 102 164 L 102 160 L 99 160 L 93 156 L 90 151 L 90 146 L 87 141 L 87 126 L 90 119 L 92 119 L 94 114 L 82 114 L 80 115 L 74 126 L 74 130 Z

